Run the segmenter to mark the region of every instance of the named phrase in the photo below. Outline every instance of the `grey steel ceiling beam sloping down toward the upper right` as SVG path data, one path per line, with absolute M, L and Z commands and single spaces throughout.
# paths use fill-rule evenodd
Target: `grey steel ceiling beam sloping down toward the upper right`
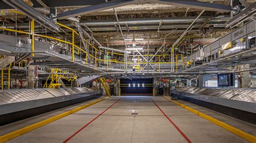
M 156 2 L 159 4 L 176 5 L 185 8 L 202 9 L 218 12 L 230 12 L 232 10 L 232 7 L 230 5 L 206 3 L 195 0 L 159 0 Z

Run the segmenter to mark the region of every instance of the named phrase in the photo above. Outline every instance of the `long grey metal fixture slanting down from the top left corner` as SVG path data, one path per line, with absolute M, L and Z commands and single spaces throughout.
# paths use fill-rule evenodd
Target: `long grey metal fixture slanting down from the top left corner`
M 48 17 L 45 17 L 32 6 L 26 5 L 22 0 L 3 0 L 13 8 L 23 12 L 26 16 L 34 19 L 37 23 L 48 28 L 52 32 L 59 32 L 59 26 L 52 22 Z

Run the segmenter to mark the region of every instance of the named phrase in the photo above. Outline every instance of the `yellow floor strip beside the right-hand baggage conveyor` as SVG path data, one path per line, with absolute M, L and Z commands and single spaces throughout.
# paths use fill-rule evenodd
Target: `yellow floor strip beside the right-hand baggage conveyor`
M 177 104 L 177 105 L 181 106 L 182 108 L 185 108 L 186 110 L 188 110 L 188 111 L 190 111 L 190 112 L 192 112 L 192 113 L 194 113 L 194 114 L 196 114 L 196 115 L 198 115 L 198 116 L 208 120 L 208 121 L 211 121 L 215 125 L 218 125 L 220 127 L 225 128 L 227 131 L 230 131 L 230 132 L 234 133 L 235 135 L 238 135 L 241 138 L 244 138 L 244 139 L 246 139 L 246 140 L 248 140 L 250 142 L 254 142 L 254 143 L 256 142 L 256 137 L 254 135 L 251 135 L 251 134 L 248 134 L 248 133 L 246 133 L 244 131 L 241 131 L 238 128 L 235 128 L 235 127 L 233 127 L 231 125 L 228 125 L 228 124 L 226 124 L 226 123 L 224 123 L 224 122 L 222 122 L 220 120 L 217 120 L 217 119 L 215 119 L 215 118 L 213 118 L 211 116 L 208 116 L 208 115 L 206 115 L 206 114 L 204 114 L 202 112 L 199 112 L 199 111 L 197 111 L 197 110 L 195 110 L 193 108 L 190 108 L 190 107 L 188 107 L 188 106 L 186 106 L 184 104 L 181 104 L 181 103 L 179 103 L 177 101 L 173 101 L 172 99 L 170 99 L 167 96 L 165 96 L 164 98 L 167 99 L 168 101 L 171 101 L 174 104 Z

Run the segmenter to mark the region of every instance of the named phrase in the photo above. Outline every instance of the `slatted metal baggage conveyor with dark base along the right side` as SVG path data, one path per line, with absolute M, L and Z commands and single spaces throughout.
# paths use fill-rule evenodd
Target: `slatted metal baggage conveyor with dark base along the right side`
M 180 87 L 173 97 L 256 124 L 256 90 Z

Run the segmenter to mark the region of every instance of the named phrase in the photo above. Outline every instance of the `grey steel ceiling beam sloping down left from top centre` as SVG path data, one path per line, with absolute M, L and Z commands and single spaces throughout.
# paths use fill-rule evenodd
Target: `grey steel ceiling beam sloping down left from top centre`
M 65 19 L 69 17 L 76 17 L 79 15 L 86 15 L 92 12 L 97 12 L 97 11 L 102 11 L 102 10 L 107 10 L 107 9 L 112 9 L 112 8 L 117 8 L 119 6 L 124 6 L 128 4 L 133 4 L 134 1 L 132 0 L 119 0 L 119 1 L 111 1 L 107 3 L 100 3 L 96 5 L 91 5 L 91 6 L 86 6 L 84 8 L 76 9 L 76 10 L 70 10 L 66 12 L 59 13 L 57 15 L 58 19 Z

